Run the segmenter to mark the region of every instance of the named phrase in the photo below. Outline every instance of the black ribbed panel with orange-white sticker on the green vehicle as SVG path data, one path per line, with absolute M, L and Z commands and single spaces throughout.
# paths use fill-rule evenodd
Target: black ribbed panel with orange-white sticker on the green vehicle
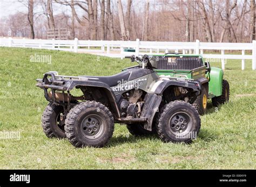
M 171 59 L 170 59 L 171 58 Z M 204 66 L 203 60 L 199 57 L 160 57 L 158 60 L 158 69 L 184 69 L 191 70 Z

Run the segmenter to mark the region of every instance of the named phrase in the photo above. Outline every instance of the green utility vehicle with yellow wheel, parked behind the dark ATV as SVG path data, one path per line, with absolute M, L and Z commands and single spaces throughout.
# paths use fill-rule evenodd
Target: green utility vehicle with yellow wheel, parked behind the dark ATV
M 210 67 L 210 63 L 204 62 L 201 55 L 166 53 L 154 55 L 151 59 L 156 64 L 154 70 L 160 76 L 184 77 L 193 80 L 207 78 L 208 81 L 203 82 L 201 93 L 193 103 L 199 114 L 205 114 L 207 99 L 212 99 L 213 106 L 228 102 L 230 85 L 223 79 L 223 70 Z

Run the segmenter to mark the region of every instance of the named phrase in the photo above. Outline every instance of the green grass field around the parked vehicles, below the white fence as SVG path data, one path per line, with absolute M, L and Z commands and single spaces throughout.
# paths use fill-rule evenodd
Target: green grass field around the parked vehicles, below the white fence
M 51 55 L 50 64 L 30 62 Z M 48 104 L 36 78 L 46 71 L 62 75 L 112 75 L 129 60 L 25 48 L 0 48 L 0 132 L 21 139 L 0 140 L 0 169 L 256 169 L 256 71 L 246 61 L 228 60 L 225 79 L 230 102 L 201 117 L 199 137 L 190 145 L 163 143 L 157 136 L 135 138 L 116 124 L 105 148 L 74 148 L 66 139 L 48 139 L 41 115 Z M 220 63 L 211 63 L 220 67 Z

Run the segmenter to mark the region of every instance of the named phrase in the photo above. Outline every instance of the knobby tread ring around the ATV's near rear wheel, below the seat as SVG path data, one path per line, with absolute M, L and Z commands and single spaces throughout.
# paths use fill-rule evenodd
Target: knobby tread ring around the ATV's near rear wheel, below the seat
M 98 145 L 93 145 L 93 147 L 103 147 L 106 145 L 106 143 L 109 142 L 110 138 L 113 135 L 114 132 L 114 118 L 112 116 L 112 113 L 110 112 L 109 109 L 102 103 L 96 102 L 94 100 L 92 101 L 86 101 L 86 102 L 81 102 L 77 105 L 75 105 L 70 112 L 68 113 L 66 120 L 65 120 L 65 134 L 66 137 L 69 139 L 71 144 L 75 147 L 84 147 L 84 146 L 91 146 L 91 145 L 85 145 L 82 142 L 79 142 L 75 133 L 74 133 L 74 124 L 75 120 L 77 119 L 77 116 L 80 112 L 87 108 L 95 107 L 98 110 L 103 110 L 105 114 L 110 118 L 111 124 L 110 124 L 110 133 L 107 133 L 106 136 L 104 136 L 104 139 L 101 141 L 103 143 L 99 143 Z

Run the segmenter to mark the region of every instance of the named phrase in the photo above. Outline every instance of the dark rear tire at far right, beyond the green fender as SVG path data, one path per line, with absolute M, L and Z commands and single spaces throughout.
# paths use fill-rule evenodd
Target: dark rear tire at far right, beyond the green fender
M 222 82 L 222 94 L 218 97 L 212 98 L 212 105 L 219 106 L 220 104 L 224 104 L 230 100 L 230 84 L 226 80 Z

